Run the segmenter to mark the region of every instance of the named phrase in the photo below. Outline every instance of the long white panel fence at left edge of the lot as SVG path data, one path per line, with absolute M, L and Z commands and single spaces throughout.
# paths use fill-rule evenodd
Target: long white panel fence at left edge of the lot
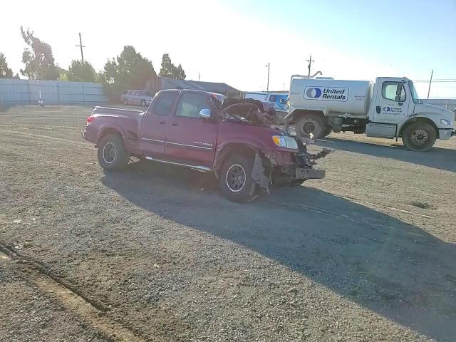
M 48 105 L 108 102 L 100 83 L 0 78 L 0 103 L 37 103 L 40 92 L 42 100 Z

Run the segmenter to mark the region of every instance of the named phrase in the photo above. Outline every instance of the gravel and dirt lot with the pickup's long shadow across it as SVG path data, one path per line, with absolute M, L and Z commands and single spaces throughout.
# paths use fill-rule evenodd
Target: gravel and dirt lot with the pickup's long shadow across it
M 89 114 L 0 113 L 0 341 L 455 341 L 456 138 L 333 134 L 325 180 L 234 204 L 104 173 Z

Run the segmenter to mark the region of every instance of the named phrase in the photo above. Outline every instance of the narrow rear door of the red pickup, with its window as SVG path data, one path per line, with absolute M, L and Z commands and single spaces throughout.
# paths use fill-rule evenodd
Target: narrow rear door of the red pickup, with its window
M 140 127 L 143 155 L 160 157 L 165 154 L 166 124 L 178 94 L 177 91 L 159 93 L 149 106 Z

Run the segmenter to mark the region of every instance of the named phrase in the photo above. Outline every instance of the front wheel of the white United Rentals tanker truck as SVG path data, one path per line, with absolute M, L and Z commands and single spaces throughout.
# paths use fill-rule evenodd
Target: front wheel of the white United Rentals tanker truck
M 404 146 L 410 151 L 427 151 L 436 139 L 437 132 L 429 123 L 412 123 L 402 133 Z

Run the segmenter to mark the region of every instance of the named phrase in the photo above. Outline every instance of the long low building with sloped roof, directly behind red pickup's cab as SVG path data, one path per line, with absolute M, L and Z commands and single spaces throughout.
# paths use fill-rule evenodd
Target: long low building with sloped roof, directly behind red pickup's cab
M 155 93 L 164 89 L 204 90 L 211 93 L 219 93 L 227 96 L 228 98 L 241 97 L 241 91 L 233 88 L 232 86 L 228 86 L 227 83 L 175 80 L 174 78 L 157 76 L 152 78 L 152 80 L 147 81 L 145 86 L 145 90 L 152 93 L 152 95 L 155 95 Z

